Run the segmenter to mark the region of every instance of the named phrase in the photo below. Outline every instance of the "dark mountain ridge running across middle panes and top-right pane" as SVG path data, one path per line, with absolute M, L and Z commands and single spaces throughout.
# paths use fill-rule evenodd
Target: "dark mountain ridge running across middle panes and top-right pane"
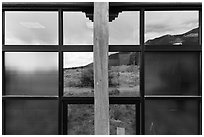
M 164 35 L 155 39 L 148 40 L 145 45 L 197 45 L 198 44 L 198 31 L 199 28 L 192 29 L 180 35 Z M 109 55 L 109 66 L 131 65 L 139 64 L 139 52 L 118 52 Z M 86 66 L 74 67 L 85 68 L 93 67 L 93 63 Z

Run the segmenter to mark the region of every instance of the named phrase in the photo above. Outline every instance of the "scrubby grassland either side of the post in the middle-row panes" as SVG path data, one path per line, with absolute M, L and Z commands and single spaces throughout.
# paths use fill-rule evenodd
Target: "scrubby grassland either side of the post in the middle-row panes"
M 109 95 L 135 96 L 139 90 L 139 67 L 137 65 L 110 66 L 108 71 Z M 65 95 L 92 96 L 94 88 L 93 68 L 64 70 Z M 139 94 L 139 93 L 138 93 Z

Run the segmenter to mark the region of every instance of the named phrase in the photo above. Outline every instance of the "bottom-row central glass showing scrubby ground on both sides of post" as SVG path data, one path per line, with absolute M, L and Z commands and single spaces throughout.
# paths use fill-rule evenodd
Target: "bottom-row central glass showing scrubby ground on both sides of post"
M 134 135 L 135 105 L 110 105 L 110 134 Z M 68 105 L 68 134 L 94 135 L 94 105 Z

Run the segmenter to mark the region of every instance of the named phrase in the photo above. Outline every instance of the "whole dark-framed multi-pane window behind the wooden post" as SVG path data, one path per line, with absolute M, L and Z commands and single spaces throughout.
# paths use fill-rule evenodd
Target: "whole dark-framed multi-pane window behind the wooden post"
M 2 133 L 94 134 L 94 5 L 2 4 Z M 110 134 L 201 134 L 201 3 L 109 3 Z

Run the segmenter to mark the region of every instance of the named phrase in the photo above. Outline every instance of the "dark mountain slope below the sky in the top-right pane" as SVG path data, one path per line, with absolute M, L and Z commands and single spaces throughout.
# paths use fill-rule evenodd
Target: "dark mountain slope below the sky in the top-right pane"
M 145 45 L 198 45 L 199 28 L 192 29 L 184 34 L 164 35 L 145 42 Z

